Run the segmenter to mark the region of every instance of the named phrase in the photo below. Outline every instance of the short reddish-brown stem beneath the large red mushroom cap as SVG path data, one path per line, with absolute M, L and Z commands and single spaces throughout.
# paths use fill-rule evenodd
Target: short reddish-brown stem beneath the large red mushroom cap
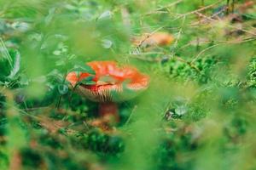
M 113 117 L 115 122 L 119 122 L 118 105 L 113 102 L 100 103 L 99 115 L 102 117 Z

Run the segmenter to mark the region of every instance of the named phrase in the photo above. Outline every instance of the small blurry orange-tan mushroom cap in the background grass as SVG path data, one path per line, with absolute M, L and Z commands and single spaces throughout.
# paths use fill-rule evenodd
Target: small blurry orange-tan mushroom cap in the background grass
M 154 32 L 153 34 L 145 33 L 141 37 L 135 37 L 133 43 L 136 46 L 165 46 L 173 42 L 174 37 L 167 32 Z

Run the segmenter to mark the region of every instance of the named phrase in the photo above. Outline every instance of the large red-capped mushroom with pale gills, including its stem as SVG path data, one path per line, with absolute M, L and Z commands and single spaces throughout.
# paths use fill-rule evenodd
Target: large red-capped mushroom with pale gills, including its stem
M 90 73 L 67 74 L 67 81 L 85 98 L 99 102 L 99 115 L 112 117 L 119 122 L 117 103 L 132 99 L 148 88 L 149 77 L 131 65 L 119 67 L 114 61 L 92 61 L 87 63 L 96 72 L 93 84 L 77 84 Z

